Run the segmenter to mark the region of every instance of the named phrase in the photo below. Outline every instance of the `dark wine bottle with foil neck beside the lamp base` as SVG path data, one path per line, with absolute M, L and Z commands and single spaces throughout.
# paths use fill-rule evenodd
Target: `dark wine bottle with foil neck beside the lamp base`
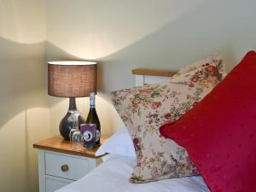
M 95 108 L 95 93 L 90 93 L 90 111 L 88 113 L 86 124 L 96 124 L 96 145 L 100 144 L 101 140 L 101 123 L 96 113 Z

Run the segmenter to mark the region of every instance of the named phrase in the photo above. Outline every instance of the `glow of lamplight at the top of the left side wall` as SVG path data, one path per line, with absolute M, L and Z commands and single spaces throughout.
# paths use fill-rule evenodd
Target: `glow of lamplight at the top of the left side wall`
M 44 0 L 0 0 L 0 37 L 20 44 L 46 40 Z

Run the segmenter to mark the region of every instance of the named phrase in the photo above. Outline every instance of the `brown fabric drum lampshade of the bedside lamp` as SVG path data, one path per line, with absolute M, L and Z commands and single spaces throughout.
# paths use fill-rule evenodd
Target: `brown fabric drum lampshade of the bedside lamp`
M 96 92 L 96 62 L 48 62 L 49 96 L 82 97 Z

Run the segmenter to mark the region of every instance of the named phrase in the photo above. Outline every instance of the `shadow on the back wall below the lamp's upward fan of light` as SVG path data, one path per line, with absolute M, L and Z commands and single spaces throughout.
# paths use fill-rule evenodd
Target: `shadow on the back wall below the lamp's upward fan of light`
M 252 6 L 240 1 L 232 2 L 231 5 L 230 1 L 221 1 L 221 6 L 219 3 L 202 3 L 124 49 L 97 59 L 101 63 L 99 90 L 108 93 L 133 86 L 132 68 L 178 69 L 212 52 L 223 55 L 230 70 L 247 50 L 256 48 L 255 41 L 252 43 L 251 40 L 256 27 L 250 25 L 255 18 L 255 3 L 249 1 Z M 244 10 L 244 14 L 237 14 L 241 10 Z M 246 30 L 241 33 L 238 29 L 243 28 Z M 65 52 L 65 48 L 57 48 L 50 42 L 47 44 L 47 53 L 49 60 L 86 60 L 70 55 Z

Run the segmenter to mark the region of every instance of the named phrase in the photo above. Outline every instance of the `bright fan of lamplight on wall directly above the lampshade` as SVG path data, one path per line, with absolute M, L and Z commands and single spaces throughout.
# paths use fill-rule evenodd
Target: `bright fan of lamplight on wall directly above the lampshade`
M 100 59 L 145 38 L 205 0 L 189 2 L 115 1 L 113 8 L 111 0 L 47 0 L 47 38 L 70 55 Z

